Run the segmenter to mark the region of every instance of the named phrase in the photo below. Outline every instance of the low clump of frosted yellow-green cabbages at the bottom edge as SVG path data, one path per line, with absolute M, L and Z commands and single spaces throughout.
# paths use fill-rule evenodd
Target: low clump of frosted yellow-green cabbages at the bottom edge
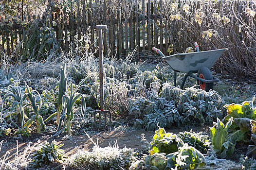
M 148 170 L 194 170 L 206 164 L 203 154 L 197 148 L 202 150 L 208 140 L 200 133 L 184 132 L 175 135 L 159 127 L 150 144 L 149 155 L 145 159 Z

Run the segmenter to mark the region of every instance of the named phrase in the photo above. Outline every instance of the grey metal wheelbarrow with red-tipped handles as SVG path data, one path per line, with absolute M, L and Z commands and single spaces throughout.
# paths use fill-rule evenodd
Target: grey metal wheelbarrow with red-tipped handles
M 212 76 L 210 68 L 213 67 L 215 62 L 219 59 L 220 55 L 228 49 L 219 49 L 211 51 L 199 51 L 199 46 L 195 43 L 197 52 L 178 53 L 170 56 L 165 56 L 159 49 L 153 47 L 153 51 L 156 51 L 162 56 L 168 65 L 174 71 L 174 86 L 176 86 L 177 72 L 186 73 L 181 89 L 185 84 L 188 76 L 197 79 L 197 83 L 202 90 L 213 90 L 215 82 L 219 82 L 219 79 Z M 197 76 L 194 75 L 197 73 Z

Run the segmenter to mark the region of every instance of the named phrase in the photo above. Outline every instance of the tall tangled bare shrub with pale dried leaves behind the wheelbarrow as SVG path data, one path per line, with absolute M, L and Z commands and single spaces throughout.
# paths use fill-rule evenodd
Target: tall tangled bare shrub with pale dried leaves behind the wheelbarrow
M 238 80 L 256 78 L 256 1 L 182 0 L 177 8 L 173 4 L 164 0 L 162 17 L 175 52 L 194 42 L 202 51 L 228 48 L 215 68 Z

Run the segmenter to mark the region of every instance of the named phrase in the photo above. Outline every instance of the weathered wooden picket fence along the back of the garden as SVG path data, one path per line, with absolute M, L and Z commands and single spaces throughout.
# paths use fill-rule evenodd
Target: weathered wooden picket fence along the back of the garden
M 49 5 L 49 13 L 43 16 L 31 16 L 29 11 L 22 10 L 19 17 L 22 23 L 18 21 L 3 24 L 0 50 L 9 56 L 16 52 L 17 56 L 17 48 L 25 48 L 24 38 L 29 41 L 29 37 L 26 37 L 29 27 L 38 27 L 38 30 L 50 27 L 54 30 L 54 41 L 58 44 L 58 49 L 55 50 L 68 53 L 72 48 L 85 45 L 85 35 L 89 33 L 90 26 L 91 50 L 95 51 L 97 45 L 93 42 L 97 36 L 93 26 L 105 24 L 108 26 L 108 30 L 104 32 L 105 55 L 107 49 L 111 56 L 117 53 L 119 57 L 135 48 L 138 55 L 145 55 L 145 52 L 152 51 L 153 46 L 167 53 L 171 39 L 164 27 L 166 18 L 162 3 L 162 0 L 76 0 L 70 3 L 69 8 L 61 9 L 63 4 L 60 7 Z M 42 37 L 39 39 L 42 40 Z M 49 46 L 46 51 L 51 48 L 55 47 Z

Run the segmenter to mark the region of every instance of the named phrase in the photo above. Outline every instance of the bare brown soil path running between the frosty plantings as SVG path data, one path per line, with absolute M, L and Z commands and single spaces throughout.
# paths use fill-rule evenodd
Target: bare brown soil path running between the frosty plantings
M 194 132 L 203 132 L 204 134 L 209 135 L 208 126 L 195 127 L 195 128 L 192 128 L 192 130 Z M 190 128 L 176 127 L 175 129 L 174 128 L 168 129 L 166 131 L 177 134 L 183 131 L 190 131 Z M 141 134 L 145 134 L 144 136 L 146 137 L 147 141 L 150 142 L 155 132 L 135 131 L 135 130 L 106 131 L 106 132 L 100 132 L 97 134 L 91 134 L 90 137 L 93 140 L 93 142 L 97 143 L 100 147 L 107 147 L 117 143 L 120 149 L 127 147 L 127 148 L 134 148 L 134 149 L 140 150 L 144 147 L 144 143 L 141 142 Z M 25 139 L 23 138 L 22 141 L 19 141 L 18 153 L 23 154 L 29 142 L 32 142 L 31 146 L 33 146 L 33 145 L 37 145 L 38 143 L 44 143 L 45 141 L 51 142 L 54 139 L 57 141 L 57 144 L 61 144 L 61 143 L 64 144 L 61 147 L 61 149 L 65 151 L 66 156 L 71 156 L 74 153 L 77 153 L 79 149 L 91 151 L 94 146 L 91 139 L 86 135 L 64 136 L 59 138 L 53 138 L 51 136 L 37 136 L 37 138 L 25 138 Z M 32 153 L 35 151 L 35 149 L 36 148 L 31 150 Z M 17 153 L 17 142 L 13 138 L 4 139 L 2 148 L 0 150 L 0 158 L 3 158 L 7 151 L 10 152 L 7 160 L 12 161 L 15 158 L 15 155 Z

